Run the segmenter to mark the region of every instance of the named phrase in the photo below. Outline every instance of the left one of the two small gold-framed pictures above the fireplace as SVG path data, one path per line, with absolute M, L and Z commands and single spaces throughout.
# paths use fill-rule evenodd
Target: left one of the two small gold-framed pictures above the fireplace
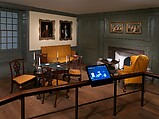
M 123 22 L 110 22 L 110 33 L 123 33 Z

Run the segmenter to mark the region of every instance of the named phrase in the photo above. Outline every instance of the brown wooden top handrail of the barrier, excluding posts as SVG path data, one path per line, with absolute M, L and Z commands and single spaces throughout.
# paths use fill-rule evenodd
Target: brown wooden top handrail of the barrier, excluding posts
M 113 79 L 114 80 L 121 80 L 124 78 L 130 78 L 130 77 L 136 77 L 136 76 L 142 76 L 142 75 L 147 75 L 147 76 L 159 78 L 159 75 L 155 75 L 152 73 L 138 72 L 138 73 L 124 74 L 124 75 L 117 75 L 117 76 L 114 76 Z M 61 85 L 61 86 L 55 86 L 55 87 L 48 86 L 48 87 L 40 87 L 40 88 L 22 90 L 22 91 L 19 91 L 16 93 L 11 93 L 5 97 L 0 98 L 0 106 L 4 105 L 6 103 L 12 102 L 14 100 L 20 99 L 21 97 L 28 97 L 28 96 L 36 95 L 38 93 L 46 93 L 49 91 L 65 90 L 65 89 L 82 87 L 82 86 L 87 86 L 87 85 L 90 85 L 90 83 L 88 80 L 85 80 L 85 81 L 81 81 L 81 82 L 70 83 L 67 85 Z

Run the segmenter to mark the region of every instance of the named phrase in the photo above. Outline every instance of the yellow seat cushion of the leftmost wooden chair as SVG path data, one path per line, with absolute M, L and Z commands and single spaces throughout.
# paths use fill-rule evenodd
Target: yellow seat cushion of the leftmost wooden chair
M 15 77 L 13 80 L 16 81 L 18 84 L 23 84 L 23 83 L 25 83 L 25 82 L 27 82 L 27 81 L 32 80 L 33 78 L 35 78 L 34 75 L 24 74 L 24 75 Z

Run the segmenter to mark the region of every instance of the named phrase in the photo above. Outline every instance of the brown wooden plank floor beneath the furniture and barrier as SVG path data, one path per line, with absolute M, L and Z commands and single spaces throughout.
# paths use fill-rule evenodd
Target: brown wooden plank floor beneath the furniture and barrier
M 83 71 L 83 80 L 87 80 L 86 72 Z M 146 81 L 146 89 L 159 93 L 158 83 Z M 136 89 L 130 86 L 127 92 Z M 9 95 L 9 79 L 0 80 L 0 98 Z M 118 87 L 118 94 L 122 94 Z M 35 119 L 75 119 L 75 110 L 69 109 L 58 113 L 45 115 L 46 113 L 74 106 L 75 90 L 70 90 L 70 98 L 65 98 L 65 91 L 61 91 L 58 97 L 57 107 L 54 108 L 55 95 L 46 94 L 44 104 L 35 96 L 26 98 L 26 118 Z M 113 85 L 100 87 L 79 88 L 79 104 L 113 96 Z M 44 115 L 36 117 L 37 115 Z M 20 119 L 20 100 L 11 102 L 0 107 L 0 119 Z M 145 92 L 144 107 L 140 106 L 140 92 L 117 98 L 117 116 L 113 116 L 113 99 L 96 102 L 79 107 L 79 119 L 159 119 L 159 96 Z

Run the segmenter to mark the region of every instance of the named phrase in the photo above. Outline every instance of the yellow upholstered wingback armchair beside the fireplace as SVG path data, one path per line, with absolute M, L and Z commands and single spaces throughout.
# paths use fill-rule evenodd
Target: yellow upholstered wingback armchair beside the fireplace
M 124 66 L 123 70 L 118 70 L 118 74 L 129 74 L 135 72 L 144 72 L 147 69 L 149 58 L 146 55 L 133 55 L 130 57 L 131 65 Z M 124 85 L 142 83 L 142 76 L 124 79 Z

